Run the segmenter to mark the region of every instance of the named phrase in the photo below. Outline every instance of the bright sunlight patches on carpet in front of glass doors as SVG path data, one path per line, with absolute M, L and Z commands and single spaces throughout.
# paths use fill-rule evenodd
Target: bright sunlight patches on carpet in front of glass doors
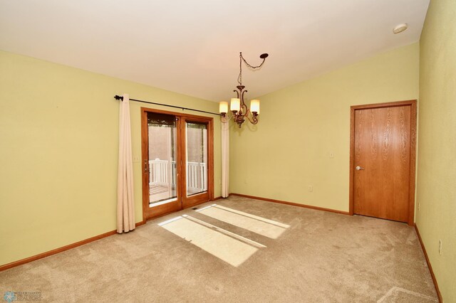
M 289 225 L 284 223 L 217 204 L 197 212 L 273 239 L 279 238 L 286 228 L 289 228 Z M 254 240 L 188 215 L 177 216 L 158 225 L 234 267 L 241 265 L 260 248 L 266 248 Z

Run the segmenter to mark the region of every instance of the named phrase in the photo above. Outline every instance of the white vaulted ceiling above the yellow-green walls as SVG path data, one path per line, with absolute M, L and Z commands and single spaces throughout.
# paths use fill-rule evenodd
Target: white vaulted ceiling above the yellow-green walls
M 418 41 L 429 1 L 0 0 L 0 49 L 212 101 L 269 53 L 251 98 Z

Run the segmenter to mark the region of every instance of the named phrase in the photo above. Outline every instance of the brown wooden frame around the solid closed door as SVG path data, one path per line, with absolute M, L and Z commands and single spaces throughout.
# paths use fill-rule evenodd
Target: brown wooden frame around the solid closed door
M 350 191 L 349 191 L 349 211 L 353 216 L 355 176 L 355 111 L 368 110 L 382 107 L 410 106 L 410 192 L 408 206 L 408 225 L 415 223 L 415 170 L 416 170 L 416 114 L 417 100 L 406 100 L 397 102 L 377 103 L 370 105 L 353 105 L 350 107 Z

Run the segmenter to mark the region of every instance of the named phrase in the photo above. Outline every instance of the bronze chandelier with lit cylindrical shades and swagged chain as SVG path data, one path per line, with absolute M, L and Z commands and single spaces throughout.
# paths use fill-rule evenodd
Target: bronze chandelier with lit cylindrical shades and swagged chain
M 261 68 L 267 57 L 267 53 L 261 54 L 259 58 L 263 59 L 263 62 L 258 66 L 252 66 L 247 63 L 244 57 L 242 57 L 242 53 L 239 53 L 239 76 L 237 77 L 237 83 L 239 83 L 239 85 L 237 85 L 237 90 L 233 90 L 233 92 L 236 92 L 237 97 L 231 98 L 231 104 L 229 106 L 229 110 L 232 112 L 231 116 L 227 117 L 228 102 L 219 102 L 219 112 L 222 114 L 222 117 L 225 118 L 225 122 L 229 122 L 230 119 L 233 119 L 239 128 L 242 127 L 242 123 L 244 123 L 246 119 L 252 124 L 258 123 L 259 100 L 250 100 L 250 110 L 244 102 L 244 93 L 247 92 L 247 90 L 244 90 L 245 86 L 242 85 L 242 62 L 252 70 L 257 70 Z

